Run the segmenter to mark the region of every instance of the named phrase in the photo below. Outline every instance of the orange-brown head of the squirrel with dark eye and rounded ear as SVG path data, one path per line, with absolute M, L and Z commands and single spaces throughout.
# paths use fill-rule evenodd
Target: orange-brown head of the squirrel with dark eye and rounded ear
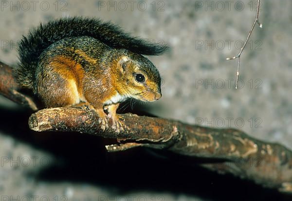
M 161 98 L 161 77 L 156 67 L 143 55 L 127 53 L 117 59 L 120 76 L 118 91 L 141 101 Z

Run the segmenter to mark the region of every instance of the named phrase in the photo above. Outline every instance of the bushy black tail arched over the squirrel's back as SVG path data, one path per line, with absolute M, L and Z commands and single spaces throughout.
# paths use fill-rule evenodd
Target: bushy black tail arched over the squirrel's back
M 41 53 L 55 41 L 66 37 L 94 37 L 112 48 L 127 49 L 141 55 L 161 55 L 168 47 L 131 37 L 120 27 L 97 18 L 71 17 L 53 20 L 24 36 L 18 46 L 20 65 L 16 69 L 18 82 L 32 88 L 32 81 Z

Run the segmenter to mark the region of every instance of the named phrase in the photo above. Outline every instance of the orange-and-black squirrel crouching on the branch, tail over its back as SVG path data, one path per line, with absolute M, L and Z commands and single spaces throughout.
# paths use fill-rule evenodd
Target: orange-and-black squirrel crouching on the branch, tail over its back
M 22 37 L 14 73 L 45 108 L 87 107 L 98 114 L 103 131 L 111 119 L 111 128 L 120 132 L 125 128 L 116 113 L 120 103 L 162 97 L 160 74 L 143 55 L 167 49 L 98 18 L 60 18 Z

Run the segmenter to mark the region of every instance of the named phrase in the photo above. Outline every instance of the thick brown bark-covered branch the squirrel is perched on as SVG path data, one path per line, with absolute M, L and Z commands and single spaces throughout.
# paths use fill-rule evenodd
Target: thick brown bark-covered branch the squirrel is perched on
M 11 68 L 2 63 L 0 80 L 4 83 L 0 85 L 2 95 L 37 109 L 31 98 L 17 91 L 18 84 L 12 76 Z M 203 128 L 129 113 L 122 116 L 128 128 L 120 133 L 111 128 L 102 131 L 97 123 L 97 114 L 87 108 L 38 110 L 29 118 L 29 127 L 35 131 L 78 131 L 117 139 L 117 144 L 106 146 L 108 151 L 145 146 L 188 157 L 220 160 L 200 165 L 292 193 L 292 151 L 285 146 L 257 140 L 237 129 Z

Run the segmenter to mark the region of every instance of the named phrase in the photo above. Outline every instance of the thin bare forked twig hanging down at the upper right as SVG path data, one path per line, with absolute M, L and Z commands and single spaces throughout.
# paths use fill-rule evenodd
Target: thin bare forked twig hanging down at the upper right
M 260 0 L 257 0 L 256 18 L 255 18 L 254 24 L 253 24 L 253 26 L 252 26 L 250 32 L 248 33 L 248 36 L 247 36 L 247 38 L 246 38 L 246 40 L 245 40 L 245 42 L 244 42 L 242 48 L 240 49 L 239 53 L 238 53 L 236 56 L 234 56 L 234 57 L 228 57 L 228 58 L 226 58 L 226 60 L 232 60 L 232 59 L 238 58 L 238 63 L 237 63 L 237 73 L 236 73 L 236 86 L 235 86 L 235 89 L 237 89 L 237 85 L 238 85 L 239 66 L 240 66 L 240 56 L 241 56 L 241 54 L 242 54 L 242 51 L 243 51 L 243 49 L 245 48 L 245 46 L 246 46 L 246 44 L 247 44 L 249 38 L 251 37 L 251 34 L 252 34 L 252 32 L 253 32 L 253 30 L 254 30 L 254 28 L 255 28 L 256 23 L 259 25 L 260 28 L 263 27 L 263 25 L 258 21 L 259 4 L 260 4 Z

